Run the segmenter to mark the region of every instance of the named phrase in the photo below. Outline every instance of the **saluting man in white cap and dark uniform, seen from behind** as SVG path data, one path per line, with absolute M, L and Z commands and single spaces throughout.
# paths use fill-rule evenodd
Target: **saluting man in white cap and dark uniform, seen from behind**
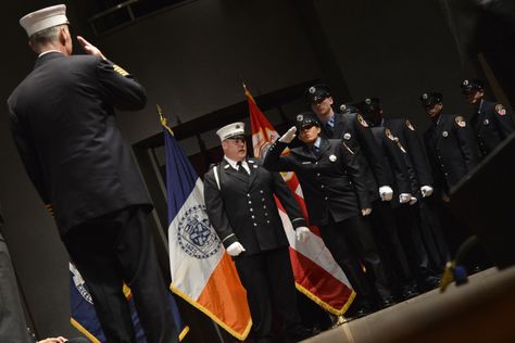
M 38 59 L 8 100 L 11 130 L 88 283 L 102 330 L 109 342 L 136 342 L 125 282 L 147 341 L 178 342 L 146 224 L 152 204 L 115 122 L 115 107 L 145 106 L 145 89 L 81 37 L 87 55 L 71 55 L 65 5 L 33 12 L 20 23 Z

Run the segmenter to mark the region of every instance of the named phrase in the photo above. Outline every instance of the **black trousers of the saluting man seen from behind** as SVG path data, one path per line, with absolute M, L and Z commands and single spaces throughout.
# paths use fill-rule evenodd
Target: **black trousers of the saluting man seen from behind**
M 72 228 L 63 237 L 86 280 L 108 342 L 136 342 L 123 282 L 131 290 L 147 342 L 178 342 L 147 215 L 139 206 Z

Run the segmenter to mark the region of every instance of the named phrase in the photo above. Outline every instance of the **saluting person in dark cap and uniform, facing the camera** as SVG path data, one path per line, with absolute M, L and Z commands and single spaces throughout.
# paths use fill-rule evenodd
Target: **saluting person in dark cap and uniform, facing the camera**
M 303 147 L 280 156 L 296 131 L 300 132 Z M 374 292 L 367 279 L 374 283 L 379 307 L 394 303 L 385 265 L 365 218 L 373 211 L 372 202 L 356 155 L 347 142 L 322 138 L 319 132 L 313 113 L 299 114 L 297 126 L 271 145 L 264 166 L 271 170 L 296 172 L 310 224 L 321 228 L 325 244 L 357 293 L 355 316 L 363 316 L 374 310 Z M 360 263 L 365 266 L 366 276 Z

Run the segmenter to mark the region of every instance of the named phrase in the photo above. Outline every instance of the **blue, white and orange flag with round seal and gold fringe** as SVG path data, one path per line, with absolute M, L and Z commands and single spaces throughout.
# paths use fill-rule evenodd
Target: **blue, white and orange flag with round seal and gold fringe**
M 208 219 L 203 182 L 166 119 L 161 122 L 166 149 L 171 289 L 235 338 L 244 340 L 252 326 L 247 293 Z

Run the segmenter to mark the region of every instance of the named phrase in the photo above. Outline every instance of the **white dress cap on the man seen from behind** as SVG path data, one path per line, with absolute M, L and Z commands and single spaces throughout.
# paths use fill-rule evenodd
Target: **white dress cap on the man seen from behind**
M 66 5 L 64 4 L 56 4 L 28 13 L 20 20 L 20 25 L 25 28 L 28 37 L 46 28 L 62 24 L 70 24 L 66 17 Z

